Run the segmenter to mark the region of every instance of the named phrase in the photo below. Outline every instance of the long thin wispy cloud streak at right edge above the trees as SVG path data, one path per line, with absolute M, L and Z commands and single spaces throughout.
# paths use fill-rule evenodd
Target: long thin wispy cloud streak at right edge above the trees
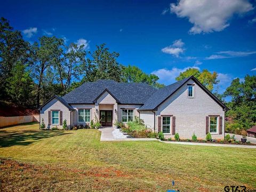
M 217 54 L 210 55 L 206 57 L 206 60 L 212 59 L 226 59 L 226 58 L 235 58 L 235 57 L 246 57 L 251 54 L 256 54 L 256 51 L 220 51 Z

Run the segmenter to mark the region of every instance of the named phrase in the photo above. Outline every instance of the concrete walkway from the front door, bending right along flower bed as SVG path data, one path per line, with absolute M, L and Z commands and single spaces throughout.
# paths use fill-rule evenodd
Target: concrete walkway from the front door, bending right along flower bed
M 132 138 L 127 134 L 124 134 L 124 137 L 122 139 L 115 138 L 113 135 L 113 131 L 115 129 L 113 127 L 104 127 L 100 128 L 99 131 L 101 131 L 101 137 L 100 141 L 157 141 L 156 138 Z

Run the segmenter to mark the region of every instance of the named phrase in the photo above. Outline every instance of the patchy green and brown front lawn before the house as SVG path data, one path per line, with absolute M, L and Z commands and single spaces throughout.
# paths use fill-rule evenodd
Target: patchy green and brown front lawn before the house
M 0 158 L 4 191 L 256 188 L 255 149 L 100 142 L 98 130 L 41 131 L 38 124 L 0 129 Z

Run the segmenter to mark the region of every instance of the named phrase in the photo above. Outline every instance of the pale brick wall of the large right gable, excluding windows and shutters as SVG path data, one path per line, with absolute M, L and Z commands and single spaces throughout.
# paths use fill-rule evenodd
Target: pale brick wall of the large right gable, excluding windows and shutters
M 195 82 L 190 80 L 187 83 L 193 84 Z M 195 84 L 195 97 L 188 98 L 187 83 L 158 107 L 156 127 L 158 127 L 158 116 L 173 115 L 176 118 L 175 132 L 179 133 L 181 138 L 191 138 L 191 135 L 195 132 L 198 139 L 205 139 L 205 117 L 220 115 L 222 116 L 222 134 L 212 134 L 212 138 L 223 139 L 225 111 L 197 84 Z M 173 135 L 166 135 L 166 138 L 168 137 L 173 138 Z

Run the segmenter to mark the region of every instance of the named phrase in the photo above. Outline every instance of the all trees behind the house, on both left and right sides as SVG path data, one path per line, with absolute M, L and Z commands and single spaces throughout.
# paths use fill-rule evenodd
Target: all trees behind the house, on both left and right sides
M 0 101 L 36 108 L 54 94 L 64 95 L 84 82 L 113 79 L 117 82 L 144 82 L 157 89 L 163 87 L 158 77 L 137 66 L 124 66 L 117 61 L 119 53 L 110 52 L 105 44 L 95 51 L 84 45 L 66 45 L 62 38 L 42 36 L 33 44 L 25 41 L 9 21 L 0 19 Z M 177 81 L 194 75 L 213 92 L 219 81 L 216 72 L 189 68 Z M 236 78 L 223 94 L 214 92 L 231 109 L 226 115 L 226 129 L 239 133 L 256 125 L 256 76 Z

